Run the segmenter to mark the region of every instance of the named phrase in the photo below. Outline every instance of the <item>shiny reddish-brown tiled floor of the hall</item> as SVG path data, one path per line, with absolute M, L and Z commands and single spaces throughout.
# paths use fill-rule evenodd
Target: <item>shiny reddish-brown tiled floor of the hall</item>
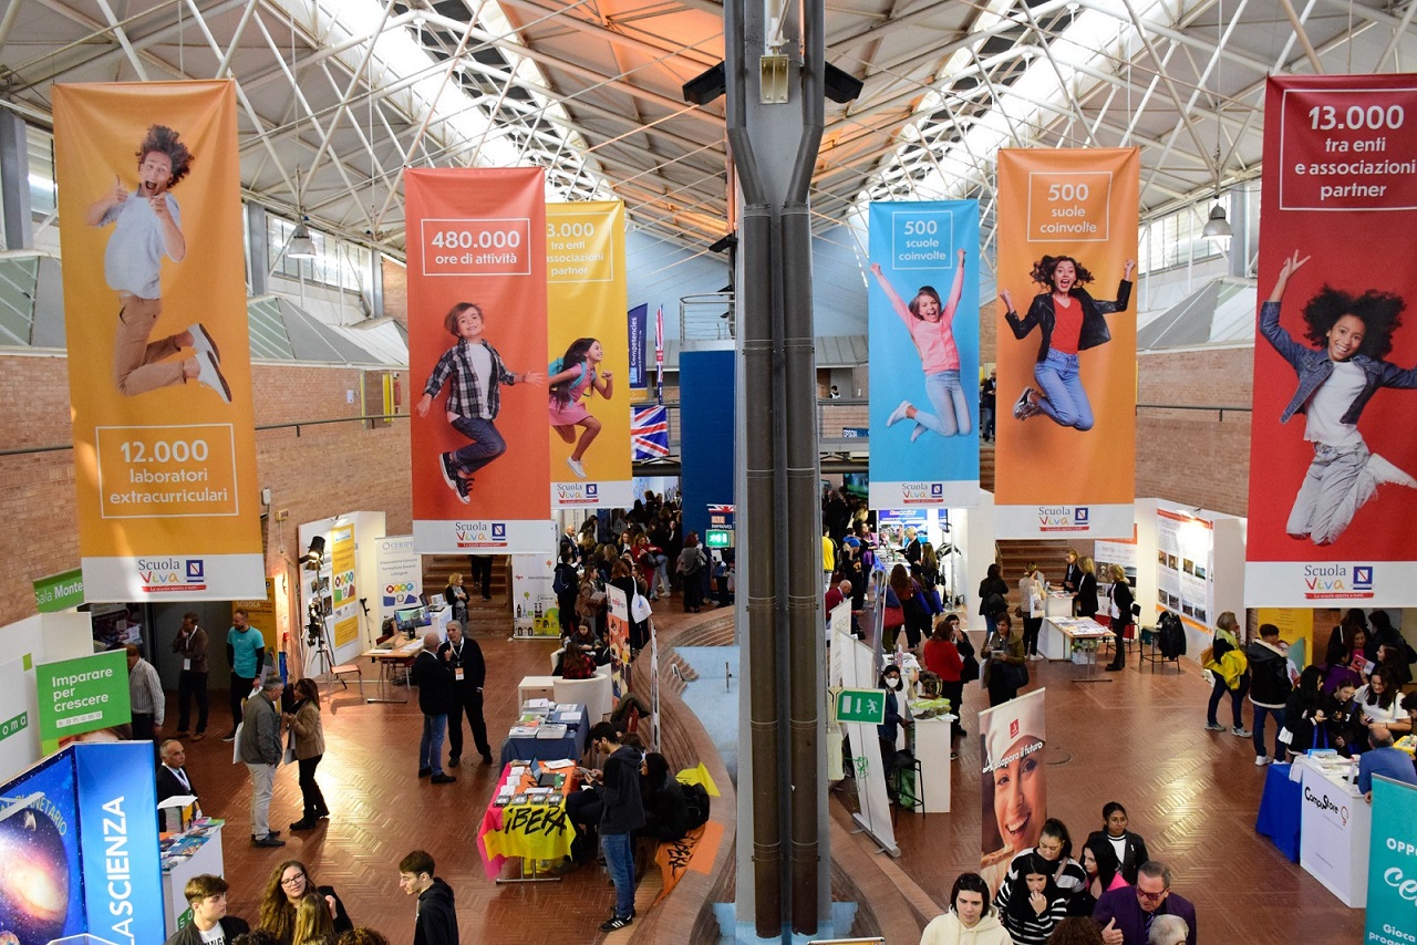
M 669 639 L 684 619 L 674 613 L 674 604 L 657 615 Z M 487 660 L 486 717 L 496 749 L 497 732 L 506 731 L 516 708 L 514 683 L 544 673 L 554 645 L 509 640 L 493 625 L 493 618 L 475 615 Z M 1104 802 L 1125 803 L 1153 856 L 1175 868 L 1175 888 L 1197 904 L 1202 942 L 1360 939 L 1362 911 L 1343 908 L 1255 836 L 1264 769 L 1254 766 L 1248 740 L 1203 731 L 1206 687 L 1197 673 L 1131 667 L 1101 684 L 1073 683 L 1068 664 L 1034 663 L 1033 673 L 1049 689 L 1049 813 L 1063 817 L 1081 840 L 1100 822 Z M 972 689 L 966 696 L 971 732 L 978 694 Z M 221 718 L 221 710 L 215 711 Z M 452 772 L 456 783 L 419 781 L 419 724 L 417 693 L 408 706 L 368 706 L 354 690 L 336 689 L 324 707 L 327 752 L 319 771 L 333 816 L 313 833 L 286 834 L 290 842 L 281 850 L 258 850 L 245 842 L 249 782 L 242 768 L 231 765 L 231 745 L 217 738 L 188 745 L 204 806 L 228 819 L 232 912 L 255 919 L 271 870 L 285 859 L 300 859 L 320 883 L 339 891 L 356 922 L 407 945 L 414 902 L 398 891 L 397 863 L 424 847 L 456 891 L 463 941 L 599 938 L 597 925 L 612 901 L 602 871 L 584 868 L 555 884 L 487 881 L 476 827 L 495 772 L 473 755 L 472 765 Z M 220 723 L 213 728 L 222 731 Z M 978 864 L 979 788 L 978 776 L 966 774 L 978 771 L 978 745 L 968 744 L 954 774 L 954 813 L 900 819 L 898 864 L 937 902 L 959 871 Z M 293 768 L 282 769 L 276 785 L 271 822 L 283 827 L 300 813 Z

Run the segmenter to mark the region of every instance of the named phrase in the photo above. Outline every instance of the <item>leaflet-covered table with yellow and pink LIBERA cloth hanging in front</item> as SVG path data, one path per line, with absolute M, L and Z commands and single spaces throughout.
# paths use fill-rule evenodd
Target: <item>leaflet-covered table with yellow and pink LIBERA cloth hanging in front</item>
M 507 860 L 520 860 L 520 878 L 534 880 L 540 878 L 540 864 L 560 863 L 570 856 L 575 827 L 565 816 L 565 798 L 575 782 L 575 762 L 567 758 L 503 765 L 502 779 L 478 827 L 478 851 L 489 880 L 519 881 L 519 877 L 502 878 Z

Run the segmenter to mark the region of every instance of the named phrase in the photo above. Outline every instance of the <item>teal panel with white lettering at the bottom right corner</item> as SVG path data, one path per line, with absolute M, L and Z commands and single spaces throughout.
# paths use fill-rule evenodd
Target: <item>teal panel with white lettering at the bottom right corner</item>
M 1373 778 L 1365 942 L 1410 945 L 1417 928 L 1417 788 Z

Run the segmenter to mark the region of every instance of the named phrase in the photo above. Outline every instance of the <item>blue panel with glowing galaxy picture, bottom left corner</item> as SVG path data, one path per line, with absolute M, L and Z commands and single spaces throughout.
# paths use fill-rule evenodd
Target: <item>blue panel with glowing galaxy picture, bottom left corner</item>
M 68 751 L 0 789 L 0 945 L 86 931 L 75 796 Z

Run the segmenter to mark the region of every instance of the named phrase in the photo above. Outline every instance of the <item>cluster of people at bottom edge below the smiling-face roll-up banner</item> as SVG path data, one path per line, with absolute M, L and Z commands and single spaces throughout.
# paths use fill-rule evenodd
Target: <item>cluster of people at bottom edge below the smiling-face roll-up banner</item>
M 979 873 L 959 876 L 920 945 L 1196 945 L 1196 908 L 1172 878 L 1112 800 L 1080 850 L 1061 820 L 1046 820 L 996 891 Z

